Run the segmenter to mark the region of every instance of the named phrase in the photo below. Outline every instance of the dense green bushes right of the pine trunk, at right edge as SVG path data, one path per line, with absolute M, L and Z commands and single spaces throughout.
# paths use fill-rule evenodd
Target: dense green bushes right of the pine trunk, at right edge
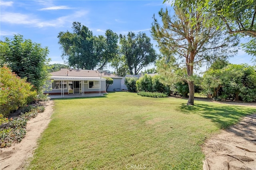
M 229 64 L 221 69 L 205 72 L 202 88 L 213 98 L 256 101 L 256 67 Z

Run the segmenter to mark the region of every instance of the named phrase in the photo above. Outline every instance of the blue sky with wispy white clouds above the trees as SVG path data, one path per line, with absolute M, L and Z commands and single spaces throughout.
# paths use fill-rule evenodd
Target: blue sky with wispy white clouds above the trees
M 58 33 L 72 31 L 72 22 L 78 21 L 88 27 L 94 35 L 104 35 L 106 29 L 117 34 L 139 31 L 150 35 L 152 16 L 169 4 L 162 0 L 13 0 L 0 1 L 0 39 L 21 34 L 48 47 L 51 63 L 64 63 L 61 58 Z M 156 45 L 155 41 L 152 41 Z M 251 56 L 241 49 L 230 59 L 231 63 L 251 64 Z M 109 68 L 111 70 L 111 68 Z

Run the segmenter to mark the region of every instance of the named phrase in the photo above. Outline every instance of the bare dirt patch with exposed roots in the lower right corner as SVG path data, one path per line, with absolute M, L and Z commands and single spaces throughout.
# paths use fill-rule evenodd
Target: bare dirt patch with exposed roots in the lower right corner
M 256 170 L 256 114 L 208 139 L 204 170 Z

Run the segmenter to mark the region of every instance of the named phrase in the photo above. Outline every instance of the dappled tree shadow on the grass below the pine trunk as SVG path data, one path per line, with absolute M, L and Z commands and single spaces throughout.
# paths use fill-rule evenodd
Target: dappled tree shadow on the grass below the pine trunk
M 211 119 L 212 122 L 220 129 L 237 123 L 242 117 L 256 113 L 256 108 L 242 107 L 242 106 L 216 106 L 208 104 L 196 104 L 194 106 L 187 106 L 182 104 L 178 107 L 178 111 L 185 114 L 198 114 L 206 119 Z

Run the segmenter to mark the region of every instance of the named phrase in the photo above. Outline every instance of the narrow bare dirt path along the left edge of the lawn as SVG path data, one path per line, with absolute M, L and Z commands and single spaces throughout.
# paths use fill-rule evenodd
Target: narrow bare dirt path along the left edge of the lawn
M 14 146 L 1 149 L 0 169 L 16 170 L 22 169 L 26 160 L 32 157 L 37 147 L 37 140 L 40 134 L 46 129 L 52 115 L 53 101 L 46 102 L 46 109 L 35 118 L 28 121 L 26 136 L 22 141 Z

